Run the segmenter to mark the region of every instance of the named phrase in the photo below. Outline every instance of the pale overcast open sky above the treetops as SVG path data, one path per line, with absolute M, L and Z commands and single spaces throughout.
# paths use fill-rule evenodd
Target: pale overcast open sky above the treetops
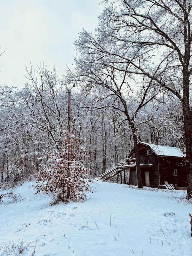
M 25 67 L 40 62 L 63 74 L 73 62 L 73 41 L 93 31 L 101 0 L 0 0 L 0 85 L 23 87 Z

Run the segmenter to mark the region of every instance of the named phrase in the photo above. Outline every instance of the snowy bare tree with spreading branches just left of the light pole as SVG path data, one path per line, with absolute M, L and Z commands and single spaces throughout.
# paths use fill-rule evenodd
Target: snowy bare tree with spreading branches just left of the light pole
M 58 80 L 55 68 L 50 71 L 46 66 L 32 66 L 27 71 L 26 88 L 19 92 L 23 106 L 23 125 L 35 133 L 47 134 L 48 145 L 53 144 L 61 150 L 62 136 L 67 127 L 66 89 Z

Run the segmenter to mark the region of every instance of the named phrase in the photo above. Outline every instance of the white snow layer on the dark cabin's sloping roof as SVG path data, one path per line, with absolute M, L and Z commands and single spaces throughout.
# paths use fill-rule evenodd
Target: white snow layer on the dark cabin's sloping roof
M 149 146 L 153 150 L 153 152 L 155 152 L 155 154 L 159 156 L 185 157 L 185 155 L 181 152 L 181 149 L 176 147 L 155 145 L 141 141 L 139 143 Z

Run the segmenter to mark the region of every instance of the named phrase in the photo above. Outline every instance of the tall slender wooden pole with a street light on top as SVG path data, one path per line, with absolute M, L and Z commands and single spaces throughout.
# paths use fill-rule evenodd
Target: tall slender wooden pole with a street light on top
M 71 161 L 71 89 L 75 87 L 75 83 L 73 86 L 68 89 L 68 170 L 67 176 L 70 179 L 70 161 Z M 70 196 L 70 186 L 67 187 L 67 198 Z

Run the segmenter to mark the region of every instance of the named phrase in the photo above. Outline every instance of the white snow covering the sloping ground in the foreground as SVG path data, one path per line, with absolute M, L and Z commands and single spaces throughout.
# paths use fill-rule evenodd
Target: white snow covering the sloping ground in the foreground
M 13 245 L 29 256 L 192 255 L 186 191 L 97 181 L 88 200 L 51 206 L 31 187 L 16 188 L 24 200 L 0 204 L 0 256 L 15 255 Z

